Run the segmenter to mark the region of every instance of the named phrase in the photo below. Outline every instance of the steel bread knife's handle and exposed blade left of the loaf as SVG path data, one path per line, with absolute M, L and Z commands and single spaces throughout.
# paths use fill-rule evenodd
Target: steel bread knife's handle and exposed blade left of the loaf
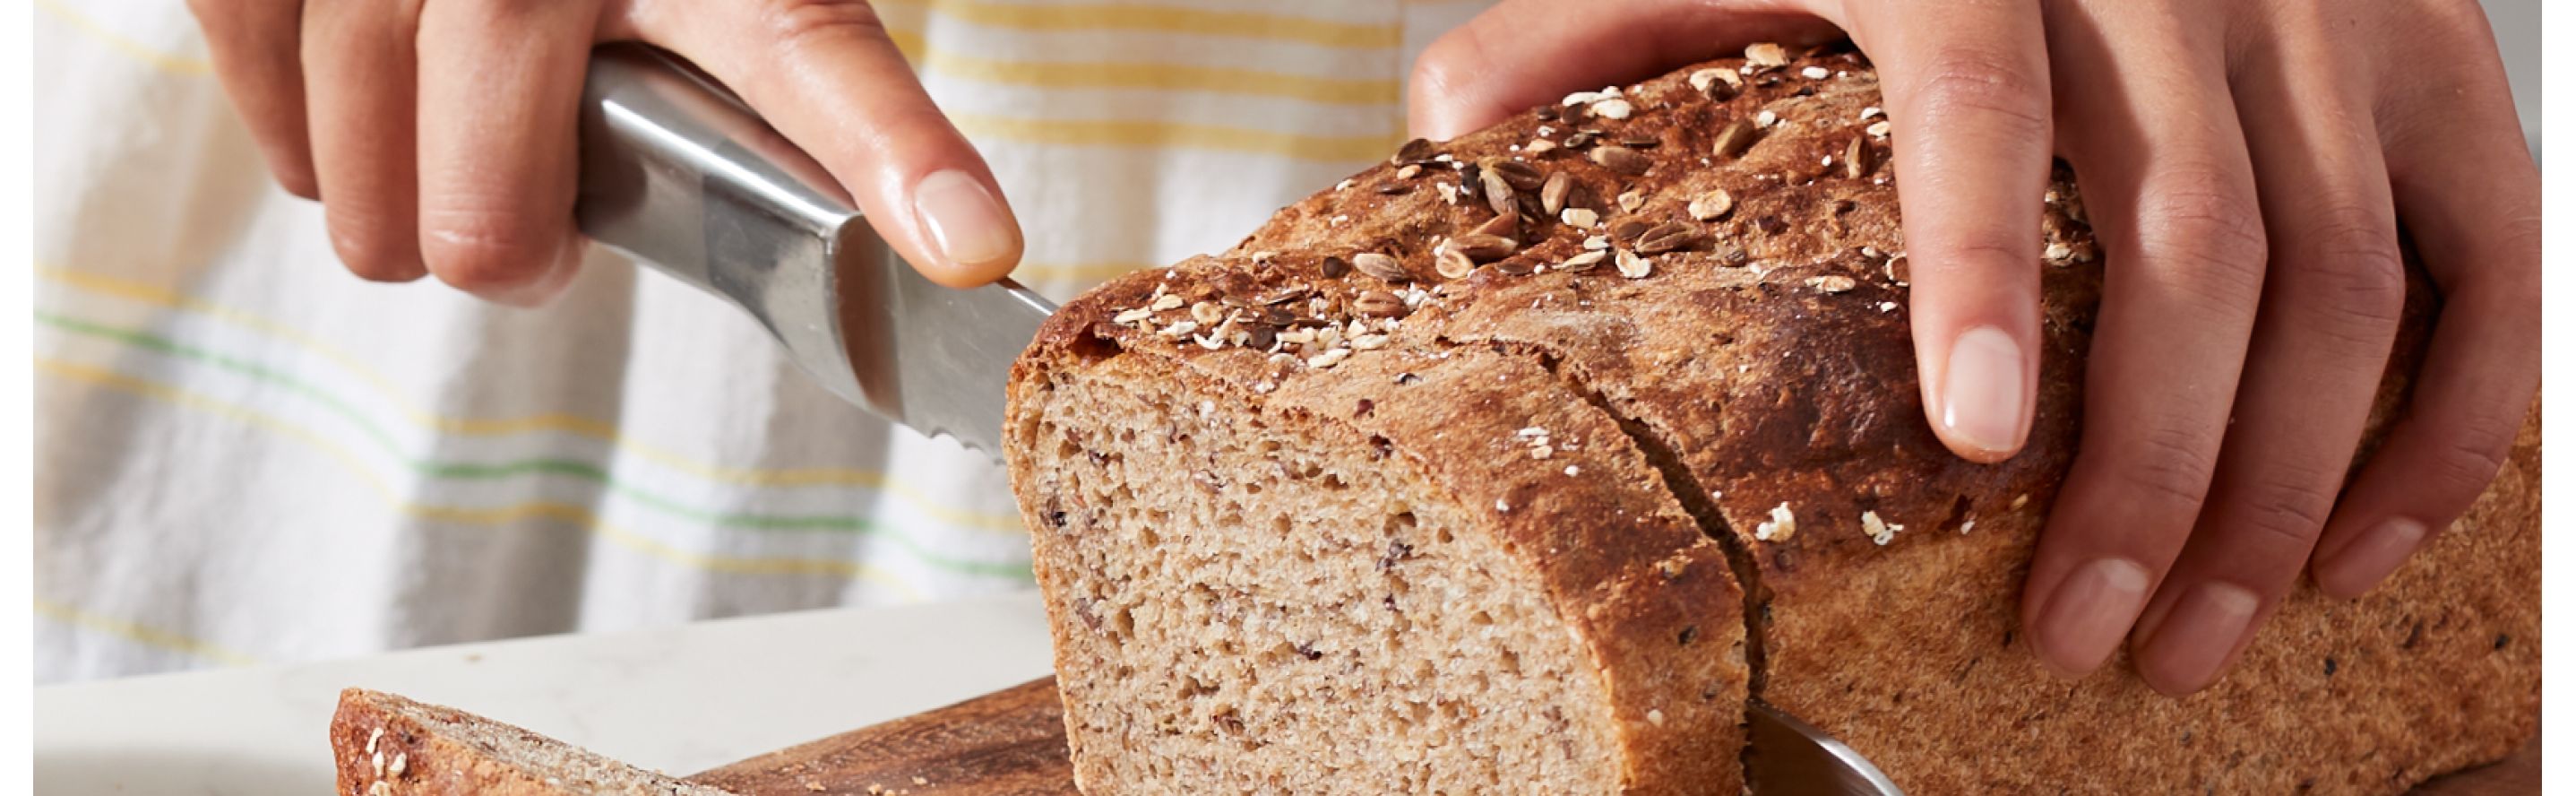
M 922 278 L 814 157 L 641 44 L 590 57 L 572 214 L 590 240 L 750 312 L 832 394 L 994 459 L 1010 363 L 1056 312 L 1015 281 Z

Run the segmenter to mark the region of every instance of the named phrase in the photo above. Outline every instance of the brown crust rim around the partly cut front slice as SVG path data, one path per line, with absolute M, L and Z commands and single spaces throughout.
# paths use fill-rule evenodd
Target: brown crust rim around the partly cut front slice
M 1180 265 L 1188 283 L 1213 260 Z M 1489 515 L 1489 533 L 1546 585 L 1558 616 L 1577 629 L 1595 670 L 1610 688 L 1620 755 L 1636 793 L 1739 791 L 1741 701 L 1747 688 L 1741 595 L 1716 549 L 1672 502 L 1615 420 L 1566 392 L 1528 361 L 1476 350 L 1358 358 L 1332 379 L 1278 379 L 1257 353 L 1224 350 L 1170 355 L 1126 327 L 1097 327 L 1110 307 L 1151 294 L 1162 273 L 1136 273 L 1066 304 L 1041 332 L 1012 376 L 1012 415 L 1033 412 L 1048 368 L 1084 368 L 1103 355 L 1170 361 L 1164 371 L 1190 392 L 1267 415 L 1293 415 L 1347 430 L 1350 441 L 1383 438 L 1391 456 L 1450 489 L 1461 505 Z M 1399 384 L 1401 374 L 1412 374 Z M 1270 384 L 1267 392 L 1260 384 Z M 1517 443 L 1517 430 L 1540 425 L 1574 443 L 1540 461 Z M 1012 433 L 1025 428 L 1010 425 Z M 1023 515 L 1048 544 L 1043 495 L 1030 451 L 1041 441 L 1012 438 L 1012 484 Z M 1582 477 L 1566 477 L 1577 466 Z M 1046 562 L 1046 556 L 1038 556 Z M 1072 631 L 1069 605 L 1059 605 L 1056 574 L 1048 616 L 1059 636 Z M 1079 701 L 1066 698 L 1066 714 Z M 1072 724 L 1072 716 L 1069 716 Z M 1077 775 L 1087 750 L 1074 739 Z

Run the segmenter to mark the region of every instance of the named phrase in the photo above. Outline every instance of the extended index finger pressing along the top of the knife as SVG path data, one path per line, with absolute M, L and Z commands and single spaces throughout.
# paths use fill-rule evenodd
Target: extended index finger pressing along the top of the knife
M 979 286 L 1020 263 L 992 170 L 866 3 L 647 3 L 634 23 L 811 152 L 930 281 Z

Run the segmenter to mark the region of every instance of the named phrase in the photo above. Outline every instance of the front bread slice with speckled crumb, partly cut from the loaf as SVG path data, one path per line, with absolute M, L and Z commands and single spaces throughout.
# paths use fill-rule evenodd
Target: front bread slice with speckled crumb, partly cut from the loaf
M 1056 374 L 1012 420 L 1056 466 L 1015 477 L 1048 495 L 1038 572 L 1090 793 L 1734 773 L 1723 554 L 1543 368 L 1386 355 L 1270 394 L 1139 355 Z

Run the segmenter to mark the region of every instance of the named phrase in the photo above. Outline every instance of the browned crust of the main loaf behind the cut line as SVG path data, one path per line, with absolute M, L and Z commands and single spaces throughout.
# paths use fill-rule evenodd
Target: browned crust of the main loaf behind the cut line
M 1788 77 L 1808 64 L 1850 75 Z M 1741 59 L 1703 67 L 1736 70 Z M 2030 541 L 2076 448 L 2081 353 L 2102 263 L 2040 265 L 2045 350 L 2030 446 L 1999 466 L 1965 464 L 1922 422 L 1906 286 L 1883 258 L 1904 247 L 1886 149 L 1875 147 L 1878 165 L 1860 175 L 1824 162 L 1852 139 L 1875 142 L 1860 116 L 1878 103 L 1875 77 L 1852 54 L 1814 52 L 1713 103 L 1685 82 L 1690 72 L 1628 90 L 1636 106 L 1628 121 L 1595 124 L 1620 139 L 1656 142 L 1643 149 L 1651 160 L 1643 175 L 1610 173 L 1569 149 L 1528 157 L 1574 175 L 1582 206 L 1610 209 L 1615 196 L 1638 191 L 1641 204 L 1613 216 L 1682 219 L 1690 198 L 1726 188 L 1734 211 L 1700 224 L 1716 240 L 1656 258 L 1651 278 L 1623 281 L 1607 265 L 1579 276 L 1504 276 L 1486 265 L 1443 281 L 1435 242 L 1494 214 L 1476 201 L 1443 201 L 1435 185 L 1458 183 L 1445 167 L 1406 180 L 1396 165 L 1381 165 L 1283 209 L 1221 258 L 1182 263 L 1170 286 L 1193 301 L 1224 294 L 1229 281 L 1252 291 L 1314 286 L 1350 301 L 1383 283 L 1324 278 L 1324 258 L 1386 252 L 1417 281 L 1440 286 L 1396 345 L 1373 355 L 1492 340 L 1553 358 L 1577 389 L 1600 392 L 1649 446 L 1680 459 L 1680 479 L 1692 484 L 1677 487 L 1723 492 L 1703 502 L 1710 507 L 1703 520 L 1747 551 L 1736 564 L 1754 574 L 1754 590 L 1770 592 L 1757 626 L 1770 675 L 1762 696 L 1842 734 L 1914 791 L 2393 793 L 2501 757 L 2535 732 L 2537 433 L 2524 435 L 2478 507 L 2406 572 L 2357 603 L 2303 585 L 2246 659 L 2202 696 L 2154 696 L 2125 665 L 2076 685 L 2045 678 L 2012 629 Z M 1762 75 L 1780 80 L 1762 85 Z M 1728 121 L 1762 108 L 1788 121 L 1739 160 L 1700 160 Z M 1510 144 L 1533 142 L 1540 126 L 1564 129 L 1522 113 L 1435 152 L 1468 162 L 1507 157 Z M 2061 170 L 2045 234 L 2092 255 L 2069 180 Z M 1558 263 L 1587 232 L 1533 219 L 1522 234 L 1525 245 L 1502 265 Z M 1811 283 L 1826 276 L 1852 278 L 1852 289 Z M 1079 340 L 1095 325 L 1141 307 L 1162 278 L 1131 276 L 1084 296 L 1082 312 L 1048 327 L 1056 353 L 1046 355 L 1087 345 Z M 2406 340 L 2421 340 L 2429 312 L 2421 276 L 2414 278 Z M 1203 353 L 1126 327 L 1100 332 L 1131 355 L 1224 363 L 1244 384 L 1273 381 L 1283 392 L 1309 379 L 1355 379 L 1345 374 L 1368 366 L 1368 355 L 1352 355 L 1337 371 L 1314 371 L 1260 363 L 1244 350 Z M 2414 368 L 2414 345 L 2401 345 L 2393 374 Z M 2403 386 L 2406 379 L 2383 384 L 2378 422 L 2398 407 Z M 1775 505 L 1788 505 L 1798 533 L 1754 538 Z M 1878 544 L 1862 533 L 1862 513 L 1906 531 Z M 2324 672 L 2326 659 L 2334 675 Z

